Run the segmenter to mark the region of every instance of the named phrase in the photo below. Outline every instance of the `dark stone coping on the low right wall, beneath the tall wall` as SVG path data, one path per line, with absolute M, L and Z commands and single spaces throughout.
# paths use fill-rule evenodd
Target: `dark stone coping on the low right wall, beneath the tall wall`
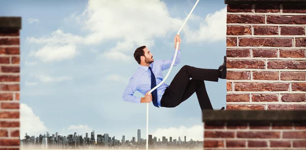
M 202 110 L 202 122 L 306 121 L 306 110 Z

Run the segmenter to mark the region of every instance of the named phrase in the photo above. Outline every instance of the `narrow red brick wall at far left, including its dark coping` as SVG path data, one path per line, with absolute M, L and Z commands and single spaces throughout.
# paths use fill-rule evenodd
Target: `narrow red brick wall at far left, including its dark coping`
M 20 144 L 20 25 L 20 18 L 0 17 L 0 149 L 19 149 Z

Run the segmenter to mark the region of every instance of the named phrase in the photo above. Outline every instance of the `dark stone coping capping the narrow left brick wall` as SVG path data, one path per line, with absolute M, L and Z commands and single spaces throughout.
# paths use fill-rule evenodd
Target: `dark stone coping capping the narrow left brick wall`
M 21 17 L 0 17 L 1 29 L 21 29 Z

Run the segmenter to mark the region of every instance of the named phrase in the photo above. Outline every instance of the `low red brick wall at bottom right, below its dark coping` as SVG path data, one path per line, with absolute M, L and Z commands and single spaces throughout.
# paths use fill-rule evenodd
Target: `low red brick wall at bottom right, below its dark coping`
M 205 123 L 203 149 L 306 149 L 305 123 Z

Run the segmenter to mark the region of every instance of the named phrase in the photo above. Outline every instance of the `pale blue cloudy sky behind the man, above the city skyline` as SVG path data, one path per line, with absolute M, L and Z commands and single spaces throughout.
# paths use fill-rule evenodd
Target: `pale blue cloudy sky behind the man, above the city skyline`
M 174 37 L 196 0 L 2 1 L 0 16 L 20 16 L 20 137 L 56 132 L 108 133 L 117 140 L 146 136 L 146 103 L 121 99 L 139 67 L 135 49 L 171 59 Z M 226 54 L 226 5 L 200 0 L 180 35 L 180 64 L 218 69 Z M 169 70 L 163 71 L 164 77 Z M 214 109 L 226 105 L 226 80 L 205 81 Z M 135 96 L 143 97 L 140 93 Z M 174 108 L 149 103 L 149 134 L 203 140 L 194 93 Z

